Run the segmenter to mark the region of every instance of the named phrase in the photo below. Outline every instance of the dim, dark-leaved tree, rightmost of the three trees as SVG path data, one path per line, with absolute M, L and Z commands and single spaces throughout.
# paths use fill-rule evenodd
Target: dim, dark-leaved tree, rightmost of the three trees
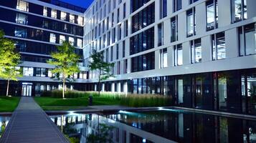
M 110 73 L 111 68 L 115 65 L 114 63 L 108 63 L 104 61 L 103 51 L 93 50 L 93 54 L 90 56 L 91 61 L 89 64 L 89 69 L 91 71 L 98 71 L 98 93 L 100 96 L 100 82 L 107 80 L 110 77 L 114 77 Z

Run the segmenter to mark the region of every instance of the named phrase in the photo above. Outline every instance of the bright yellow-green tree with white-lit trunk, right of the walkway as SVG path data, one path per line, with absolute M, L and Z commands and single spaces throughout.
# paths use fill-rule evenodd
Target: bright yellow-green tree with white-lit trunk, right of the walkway
M 57 52 L 51 54 L 52 59 L 48 60 L 48 64 L 52 64 L 55 68 L 53 74 L 62 75 L 62 97 L 65 98 L 65 85 L 68 77 L 80 71 L 77 62 L 80 57 L 75 54 L 75 47 L 68 41 L 64 41 L 62 46 L 57 46 Z

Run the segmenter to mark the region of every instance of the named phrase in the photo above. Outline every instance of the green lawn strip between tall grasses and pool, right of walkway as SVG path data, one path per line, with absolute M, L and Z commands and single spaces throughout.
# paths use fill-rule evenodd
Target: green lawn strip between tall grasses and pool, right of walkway
M 34 97 L 34 100 L 44 110 L 71 110 L 71 109 L 83 109 L 88 106 L 88 98 L 72 98 L 72 99 L 60 99 L 51 97 Z M 108 99 L 104 97 L 93 97 L 93 105 L 117 105 L 120 104 L 119 100 Z

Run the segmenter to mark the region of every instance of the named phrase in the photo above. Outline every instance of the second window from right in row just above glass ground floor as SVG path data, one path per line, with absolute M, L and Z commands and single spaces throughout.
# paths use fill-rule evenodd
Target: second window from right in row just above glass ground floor
M 212 60 L 226 58 L 225 34 L 220 32 L 212 35 Z

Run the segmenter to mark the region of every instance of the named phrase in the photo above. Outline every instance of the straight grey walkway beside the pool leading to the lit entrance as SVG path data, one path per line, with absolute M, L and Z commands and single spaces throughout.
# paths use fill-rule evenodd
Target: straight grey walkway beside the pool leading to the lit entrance
M 0 143 L 68 142 L 32 97 L 22 97 Z

